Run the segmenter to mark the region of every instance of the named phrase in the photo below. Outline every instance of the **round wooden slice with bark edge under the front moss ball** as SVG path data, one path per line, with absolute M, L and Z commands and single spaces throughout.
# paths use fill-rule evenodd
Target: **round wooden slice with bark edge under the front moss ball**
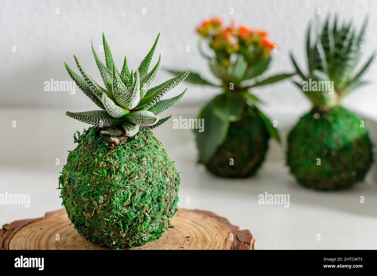
M 161 238 L 133 250 L 154 249 L 255 249 L 249 230 L 231 225 L 225 218 L 202 210 L 179 209 Z M 58 235 L 57 235 L 58 234 Z M 0 249 L 110 249 L 90 244 L 71 225 L 64 209 L 43 218 L 24 219 L 3 225 Z

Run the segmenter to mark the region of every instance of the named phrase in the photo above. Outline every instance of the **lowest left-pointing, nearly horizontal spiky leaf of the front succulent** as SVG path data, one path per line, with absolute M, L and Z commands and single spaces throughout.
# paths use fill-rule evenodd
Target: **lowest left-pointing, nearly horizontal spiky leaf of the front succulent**
M 84 112 L 66 112 L 66 115 L 78 121 L 92 124 L 98 127 L 112 127 L 119 126 L 124 122 L 124 119 L 113 118 L 106 110 L 92 110 Z

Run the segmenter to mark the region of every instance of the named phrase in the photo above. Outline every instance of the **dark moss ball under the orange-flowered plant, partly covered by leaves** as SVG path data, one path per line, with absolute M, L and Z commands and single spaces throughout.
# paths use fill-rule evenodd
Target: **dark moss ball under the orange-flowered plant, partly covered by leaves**
M 223 177 L 254 175 L 265 158 L 269 138 L 270 134 L 257 110 L 247 106 L 241 120 L 230 123 L 227 138 L 205 166 L 210 172 Z

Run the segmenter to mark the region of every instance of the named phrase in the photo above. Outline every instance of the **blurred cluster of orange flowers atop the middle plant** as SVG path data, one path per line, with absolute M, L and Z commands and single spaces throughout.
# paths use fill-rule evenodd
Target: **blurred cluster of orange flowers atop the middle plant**
M 274 47 L 274 43 L 268 40 L 266 31 L 249 29 L 246 25 L 238 26 L 236 20 L 225 28 L 220 17 L 212 17 L 203 21 L 196 31 L 209 40 L 210 47 L 215 51 L 225 50 L 228 54 L 259 48 L 268 56 Z M 250 45 L 254 47 L 250 48 Z

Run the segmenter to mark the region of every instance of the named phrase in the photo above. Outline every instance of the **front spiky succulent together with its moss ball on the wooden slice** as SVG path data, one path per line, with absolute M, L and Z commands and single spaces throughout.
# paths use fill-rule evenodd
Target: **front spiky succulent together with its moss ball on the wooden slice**
M 189 72 L 149 89 L 161 61 L 160 56 L 148 72 L 157 40 L 135 72 L 129 72 L 126 58 L 118 71 L 105 37 L 106 65 L 92 45 L 106 88 L 86 74 L 77 58 L 83 77 L 65 63 L 77 86 L 103 109 L 67 112 L 94 126 L 74 135 L 78 146 L 69 152 L 59 177 L 68 218 L 80 235 L 95 244 L 121 248 L 154 241 L 171 227 L 169 219 L 178 210 L 179 173 L 150 129 L 169 120 L 156 115 L 185 92 L 169 100 L 161 97 Z

